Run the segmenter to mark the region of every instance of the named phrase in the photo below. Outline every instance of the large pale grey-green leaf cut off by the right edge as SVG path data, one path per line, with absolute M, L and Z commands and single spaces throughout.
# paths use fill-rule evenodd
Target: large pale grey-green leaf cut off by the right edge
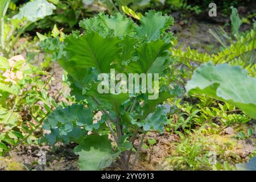
M 256 78 L 239 66 L 203 64 L 196 69 L 186 90 L 228 102 L 256 119 Z

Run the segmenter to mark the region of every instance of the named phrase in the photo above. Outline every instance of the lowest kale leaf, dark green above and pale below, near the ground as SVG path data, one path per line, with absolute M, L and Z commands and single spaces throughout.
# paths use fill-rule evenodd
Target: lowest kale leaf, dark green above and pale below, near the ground
M 114 160 L 108 135 L 89 135 L 74 148 L 74 152 L 79 155 L 79 168 L 82 171 L 103 169 Z

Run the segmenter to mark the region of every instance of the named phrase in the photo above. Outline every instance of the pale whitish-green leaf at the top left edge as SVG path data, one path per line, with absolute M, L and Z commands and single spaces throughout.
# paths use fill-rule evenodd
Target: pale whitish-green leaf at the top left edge
M 13 16 L 13 19 L 27 18 L 30 22 L 36 22 L 38 19 L 42 19 L 45 16 L 51 15 L 56 7 L 47 2 L 46 0 L 35 0 L 26 3 L 19 9 L 19 14 Z

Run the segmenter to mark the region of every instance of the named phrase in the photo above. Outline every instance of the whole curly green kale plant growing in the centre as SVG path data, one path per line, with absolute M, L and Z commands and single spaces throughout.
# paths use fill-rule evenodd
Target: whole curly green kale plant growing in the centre
M 59 107 L 48 116 L 43 127 L 50 133 L 42 142 L 77 143 L 74 151 L 81 170 L 103 169 L 112 163 L 125 170 L 134 169 L 147 132 L 163 133 L 168 122 L 171 109 L 164 102 L 182 91 L 166 81 L 174 61 L 170 52 L 174 37 L 168 31 L 173 22 L 170 16 L 156 11 L 148 11 L 137 23 L 119 13 L 100 13 L 81 20 L 83 32 L 73 31 L 64 40 L 43 40 L 42 49 L 68 73 L 70 94 L 76 103 Z M 121 81 L 110 80 L 108 85 L 109 80 L 98 80 L 102 74 L 113 77 L 113 70 L 121 73 L 115 74 Z M 123 84 L 123 77 L 130 74 L 140 76 L 133 80 L 134 92 L 126 92 Z M 142 92 L 144 86 L 139 83 L 143 74 L 154 75 L 153 88 L 149 89 L 153 92 Z M 99 88 L 106 92 L 100 93 Z M 139 144 L 135 144 L 136 139 Z

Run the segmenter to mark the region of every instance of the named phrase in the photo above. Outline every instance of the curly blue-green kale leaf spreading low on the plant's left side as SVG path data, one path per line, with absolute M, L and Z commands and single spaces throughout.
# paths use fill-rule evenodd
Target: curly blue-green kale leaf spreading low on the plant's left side
M 80 143 L 88 134 L 88 131 L 97 130 L 105 125 L 106 115 L 102 115 L 100 121 L 93 123 L 93 114 L 83 105 L 73 104 L 65 109 L 56 109 L 44 121 L 43 128 L 51 130 L 40 139 L 40 143 L 47 142 L 51 145 L 56 142 Z

